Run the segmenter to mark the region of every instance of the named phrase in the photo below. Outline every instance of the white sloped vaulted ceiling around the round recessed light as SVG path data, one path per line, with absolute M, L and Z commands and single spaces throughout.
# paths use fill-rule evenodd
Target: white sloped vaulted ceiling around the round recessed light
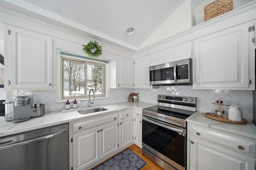
M 193 0 L 195 6 L 204 0 Z M 137 51 L 185 0 L 0 0 L 0 6 Z M 64 23 L 64 24 L 63 24 Z M 134 28 L 134 35 L 126 30 Z

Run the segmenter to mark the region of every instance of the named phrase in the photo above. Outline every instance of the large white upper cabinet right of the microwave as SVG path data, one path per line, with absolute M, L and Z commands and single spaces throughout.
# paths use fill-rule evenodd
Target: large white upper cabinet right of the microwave
M 248 22 L 193 41 L 193 89 L 255 90 L 255 31 Z

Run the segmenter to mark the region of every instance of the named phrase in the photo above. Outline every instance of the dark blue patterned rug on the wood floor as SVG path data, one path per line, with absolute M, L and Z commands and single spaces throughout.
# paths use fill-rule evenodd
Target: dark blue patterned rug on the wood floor
M 140 170 L 145 164 L 132 150 L 126 149 L 93 170 Z

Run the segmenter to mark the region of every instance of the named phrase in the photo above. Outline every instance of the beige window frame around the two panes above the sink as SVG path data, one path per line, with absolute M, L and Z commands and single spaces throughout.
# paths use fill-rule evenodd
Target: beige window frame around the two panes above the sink
M 80 59 L 80 58 L 76 58 L 76 57 L 68 57 L 65 55 L 60 55 L 60 64 L 61 64 L 61 78 L 60 78 L 60 100 L 79 100 L 79 99 L 88 99 L 89 96 L 87 95 L 88 93 L 88 89 L 85 88 L 85 95 L 84 96 L 64 96 L 64 61 L 70 61 L 70 62 L 74 62 L 74 63 L 80 63 L 80 64 L 84 64 L 84 80 L 85 80 L 85 86 L 88 87 L 88 81 L 87 81 L 87 68 L 88 68 L 88 64 L 93 64 L 93 65 L 97 65 L 97 66 L 102 66 L 102 94 L 101 95 L 95 95 L 95 98 L 104 98 L 106 97 L 106 64 L 105 63 L 101 63 L 101 62 L 97 62 L 97 61 L 91 61 L 91 60 L 86 60 L 86 59 Z

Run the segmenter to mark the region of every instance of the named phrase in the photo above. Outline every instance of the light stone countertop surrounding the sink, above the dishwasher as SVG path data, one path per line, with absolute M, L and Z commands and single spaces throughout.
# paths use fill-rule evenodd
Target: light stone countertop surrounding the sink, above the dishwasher
M 13 135 L 16 133 L 22 133 L 26 131 L 31 131 L 35 129 L 40 129 L 44 127 L 59 125 L 62 123 L 68 123 L 70 121 L 76 121 L 83 118 L 89 118 L 96 115 L 104 115 L 106 113 L 110 113 L 113 111 L 122 111 L 129 108 L 138 108 L 144 109 L 147 107 L 155 106 L 156 104 L 146 103 L 146 102 L 120 102 L 102 106 L 95 106 L 97 107 L 105 107 L 108 110 L 106 111 L 99 111 L 96 113 L 89 113 L 89 114 L 80 114 L 77 110 L 73 111 L 53 111 L 46 113 L 42 117 L 34 117 L 29 119 L 28 121 L 20 122 L 20 123 L 13 123 L 12 121 L 5 121 L 4 116 L 0 117 L 0 137 Z M 94 108 L 93 106 L 91 108 Z M 88 109 L 88 108 L 82 108 Z

